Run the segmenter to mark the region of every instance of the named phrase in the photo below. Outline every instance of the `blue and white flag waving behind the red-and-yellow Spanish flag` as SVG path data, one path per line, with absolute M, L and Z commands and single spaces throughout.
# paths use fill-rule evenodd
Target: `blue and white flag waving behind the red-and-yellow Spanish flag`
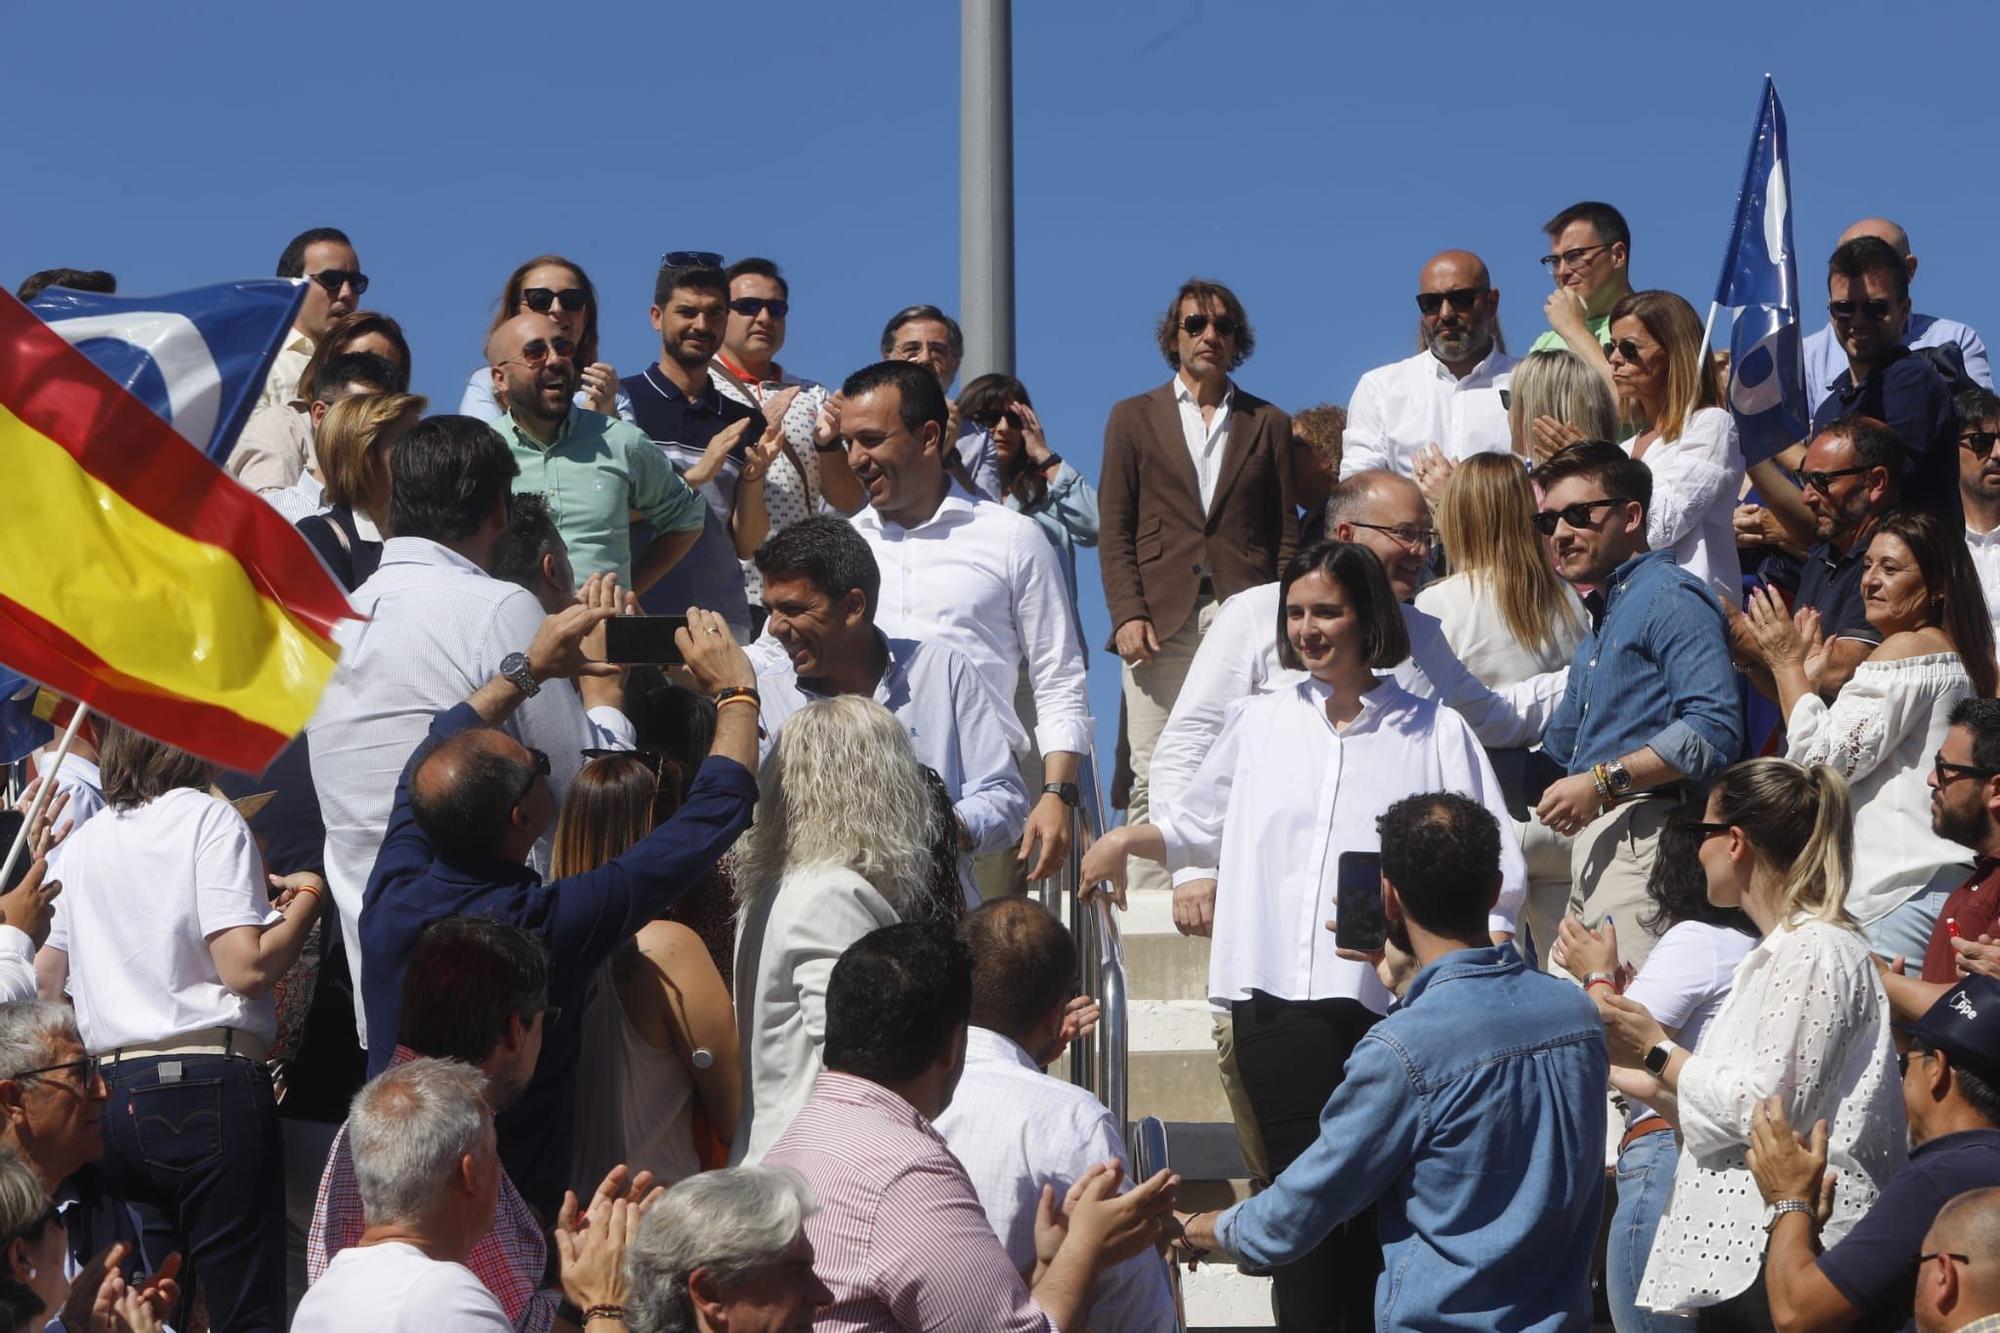
M 224 462 L 304 300 L 306 284 L 296 278 L 256 278 L 166 296 L 52 286 L 28 308 L 190 444 Z

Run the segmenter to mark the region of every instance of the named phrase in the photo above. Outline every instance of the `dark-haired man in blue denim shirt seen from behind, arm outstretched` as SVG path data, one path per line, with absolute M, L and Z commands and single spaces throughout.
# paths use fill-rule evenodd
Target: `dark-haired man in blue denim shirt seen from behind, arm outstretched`
M 1604 1025 L 1574 985 L 1490 943 L 1500 825 L 1484 807 L 1406 797 L 1380 829 L 1382 971 L 1402 1003 L 1356 1043 L 1320 1139 L 1264 1193 L 1184 1217 L 1186 1245 L 1288 1263 L 1374 1203 L 1378 1327 L 1588 1327 Z

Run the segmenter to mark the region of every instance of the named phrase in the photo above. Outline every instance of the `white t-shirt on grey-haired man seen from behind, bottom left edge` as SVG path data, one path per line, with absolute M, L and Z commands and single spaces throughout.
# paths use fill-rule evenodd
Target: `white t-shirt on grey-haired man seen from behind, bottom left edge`
M 414 1245 L 352 1245 L 306 1289 L 292 1333 L 512 1333 L 492 1291 L 462 1263 Z

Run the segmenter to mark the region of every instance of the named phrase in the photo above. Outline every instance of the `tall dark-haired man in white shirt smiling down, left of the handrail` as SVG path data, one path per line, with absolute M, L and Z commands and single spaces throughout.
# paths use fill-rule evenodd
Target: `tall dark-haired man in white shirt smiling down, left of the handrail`
M 1032 518 L 974 498 L 946 474 L 948 408 L 930 370 L 884 360 L 850 374 L 840 392 L 848 466 L 868 492 L 854 528 L 882 574 L 876 628 L 958 648 L 996 699 L 1012 701 L 1028 666 L 1048 781 L 1018 861 L 1028 879 L 1044 879 L 1070 851 L 1076 773 L 1090 749 L 1084 650 L 1056 550 Z

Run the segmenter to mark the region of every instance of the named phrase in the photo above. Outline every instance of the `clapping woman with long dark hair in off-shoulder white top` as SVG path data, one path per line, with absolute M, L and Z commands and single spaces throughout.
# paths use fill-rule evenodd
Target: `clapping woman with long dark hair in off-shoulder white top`
M 1828 705 L 1818 616 L 1768 588 L 1744 608 L 1778 687 L 1786 755 L 1854 787 L 1854 917 L 1882 957 L 1922 957 L 1972 853 L 1930 827 L 1930 761 L 1960 699 L 1992 699 L 1992 626 L 1972 556 L 1930 514 L 1882 520 L 1862 554 L 1862 608 L 1878 646 Z

